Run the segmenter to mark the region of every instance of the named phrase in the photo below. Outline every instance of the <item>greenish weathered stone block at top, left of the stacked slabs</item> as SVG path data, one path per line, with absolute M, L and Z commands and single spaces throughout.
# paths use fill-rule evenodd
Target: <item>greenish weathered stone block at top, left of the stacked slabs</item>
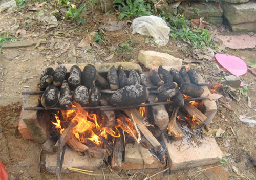
M 183 2 L 179 6 L 179 10 L 188 19 L 199 19 L 200 17 L 221 17 L 223 10 L 217 7 L 214 2 Z

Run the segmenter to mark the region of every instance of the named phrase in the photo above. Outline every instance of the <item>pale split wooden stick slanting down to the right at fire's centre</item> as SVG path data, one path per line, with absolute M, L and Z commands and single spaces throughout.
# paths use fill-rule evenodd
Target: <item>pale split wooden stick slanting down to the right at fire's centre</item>
M 130 118 L 133 119 L 134 122 L 137 124 L 139 130 L 141 133 L 145 136 L 145 138 L 148 140 L 148 142 L 151 143 L 153 148 L 156 151 L 159 151 L 161 149 L 161 144 L 157 141 L 157 139 L 153 136 L 151 131 L 149 131 L 146 126 L 143 123 L 144 117 L 140 114 L 140 112 L 136 108 L 132 109 L 124 109 L 124 112 L 126 115 Z

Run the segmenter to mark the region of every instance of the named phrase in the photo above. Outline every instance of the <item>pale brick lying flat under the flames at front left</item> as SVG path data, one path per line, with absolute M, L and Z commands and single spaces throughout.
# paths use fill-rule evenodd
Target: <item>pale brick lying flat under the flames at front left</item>
M 46 171 L 50 173 L 56 172 L 57 155 L 46 155 Z M 76 151 L 73 151 L 70 147 L 65 151 L 65 162 L 63 162 L 62 173 L 74 172 L 68 169 L 68 167 L 79 168 L 84 170 L 97 170 L 103 165 L 103 158 L 92 158 L 89 155 L 80 156 Z

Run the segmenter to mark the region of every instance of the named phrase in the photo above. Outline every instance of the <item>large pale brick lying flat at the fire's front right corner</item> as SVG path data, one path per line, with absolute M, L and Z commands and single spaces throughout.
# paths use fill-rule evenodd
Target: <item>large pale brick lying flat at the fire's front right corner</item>
M 167 158 L 171 170 L 194 168 L 220 162 L 223 153 L 215 138 L 205 137 L 202 144 L 182 143 L 182 140 L 169 140 L 165 135 L 162 139 L 167 149 Z

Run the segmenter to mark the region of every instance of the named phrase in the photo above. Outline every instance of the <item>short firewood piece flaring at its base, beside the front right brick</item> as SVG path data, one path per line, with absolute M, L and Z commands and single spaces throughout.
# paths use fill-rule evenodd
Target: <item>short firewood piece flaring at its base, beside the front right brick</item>
M 181 128 L 177 124 L 177 113 L 179 111 L 179 106 L 175 107 L 172 116 L 170 117 L 170 122 L 168 124 L 168 136 L 172 136 L 175 140 L 180 140 L 185 135 L 182 133 Z

